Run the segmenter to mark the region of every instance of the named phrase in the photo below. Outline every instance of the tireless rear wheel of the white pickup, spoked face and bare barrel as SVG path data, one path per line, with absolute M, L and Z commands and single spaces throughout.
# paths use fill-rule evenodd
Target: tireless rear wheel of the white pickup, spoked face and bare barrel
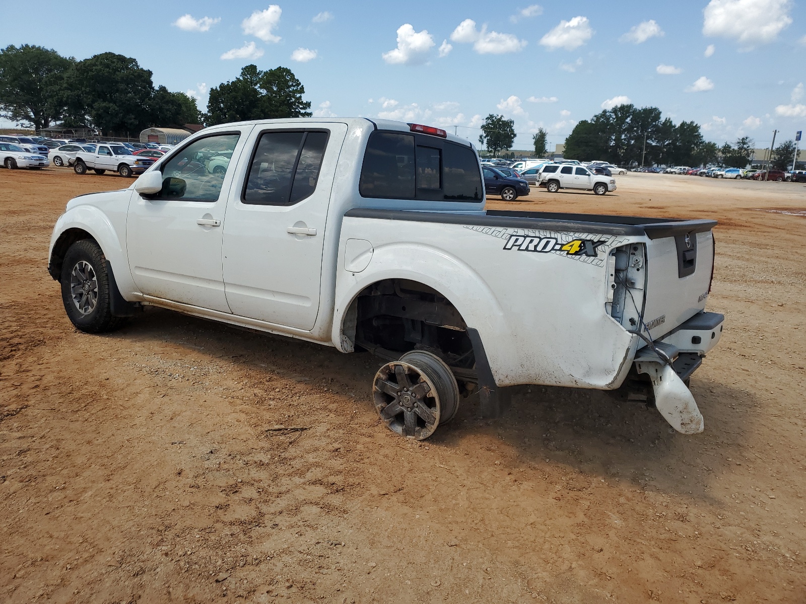
M 459 386 L 442 359 L 422 353 L 382 366 L 372 383 L 372 399 L 387 428 L 422 441 L 437 429 L 443 410 L 455 413 Z

